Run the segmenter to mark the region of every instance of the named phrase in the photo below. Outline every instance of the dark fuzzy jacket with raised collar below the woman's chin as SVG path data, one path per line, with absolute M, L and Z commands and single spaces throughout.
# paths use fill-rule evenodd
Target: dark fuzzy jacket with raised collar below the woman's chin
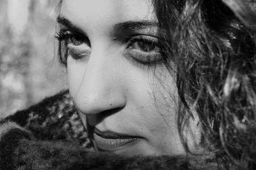
M 218 169 L 213 155 L 96 153 L 68 91 L 0 121 L 0 169 Z

